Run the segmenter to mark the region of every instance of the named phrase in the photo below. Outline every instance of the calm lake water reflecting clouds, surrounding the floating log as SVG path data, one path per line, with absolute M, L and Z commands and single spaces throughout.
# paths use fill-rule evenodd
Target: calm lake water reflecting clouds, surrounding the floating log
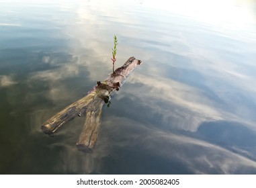
M 255 1 L 1 1 L 1 174 L 256 174 Z M 40 126 L 130 56 L 92 153 Z

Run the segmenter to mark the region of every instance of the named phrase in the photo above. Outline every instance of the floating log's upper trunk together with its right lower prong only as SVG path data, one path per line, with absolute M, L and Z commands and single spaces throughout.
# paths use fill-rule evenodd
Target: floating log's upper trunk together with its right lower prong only
M 97 86 L 92 91 L 97 93 L 97 99 L 91 101 L 87 107 L 85 125 L 83 126 L 83 130 L 77 142 L 77 148 L 79 150 L 84 152 L 92 150 L 99 134 L 103 101 L 105 103 L 109 102 L 112 91 L 118 91 L 128 75 L 130 75 L 134 68 L 140 63 L 140 60 L 130 57 L 123 66 L 117 68 L 114 74 L 110 75 L 103 83 L 97 82 Z

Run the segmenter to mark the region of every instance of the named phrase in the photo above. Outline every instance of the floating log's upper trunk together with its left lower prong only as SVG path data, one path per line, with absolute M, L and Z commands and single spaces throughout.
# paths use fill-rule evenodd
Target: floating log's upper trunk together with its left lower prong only
M 101 82 L 97 82 L 97 86 L 89 93 L 72 103 L 71 105 L 65 107 L 62 111 L 56 113 L 48 121 L 44 122 L 42 125 L 42 131 L 45 134 L 54 134 L 63 124 L 69 120 L 75 118 L 77 115 L 81 116 L 87 112 L 87 108 L 93 105 L 95 99 L 103 99 L 105 103 L 108 103 L 110 99 L 110 94 L 112 91 L 119 89 L 119 87 L 124 83 L 125 79 L 130 75 L 130 73 L 140 64 L 140 60 L 134 57 L 130 57 L 123 66 L 116 68 L 116 71 L 108 79 Z

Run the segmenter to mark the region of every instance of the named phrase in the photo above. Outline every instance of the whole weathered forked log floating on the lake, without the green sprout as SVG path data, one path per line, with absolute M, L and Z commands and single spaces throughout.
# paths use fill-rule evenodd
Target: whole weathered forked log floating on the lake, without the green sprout
M 83 151 L 90 151 L 97 140 L 99 133 L 99 124 L 101 111 L 104 102 L 109 103 L 110 94 L 122 86 L 128 75 L 132 73 L 134 68 L 141 63 L 134 57 L 130 57 L 123 66 L 116 68 L 116 71 L 108 79 L 97 82 L 97 86 L 82 99 L 65 107 L 62 111 L 56 113 L 50 120 L 44 122 L 42 131 L 45 134 L 52 135 L 69 120 L 77 115 L 85 115 L 85 125 L 77 142 L 77 148 Z

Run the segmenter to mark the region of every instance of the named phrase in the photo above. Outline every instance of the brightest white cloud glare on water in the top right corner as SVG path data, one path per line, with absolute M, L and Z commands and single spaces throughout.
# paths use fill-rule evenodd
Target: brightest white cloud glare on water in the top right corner
M 171 11 L 198 21 L 217 26 L 222 30 L 245 31 L 255 23 L 253 5 L 255 1 L 234 0 L 171 0 L 171 1 L 144 1 L 143 4 L 151 9 Z M 227 23 L 227 24 L 226 24 Z

